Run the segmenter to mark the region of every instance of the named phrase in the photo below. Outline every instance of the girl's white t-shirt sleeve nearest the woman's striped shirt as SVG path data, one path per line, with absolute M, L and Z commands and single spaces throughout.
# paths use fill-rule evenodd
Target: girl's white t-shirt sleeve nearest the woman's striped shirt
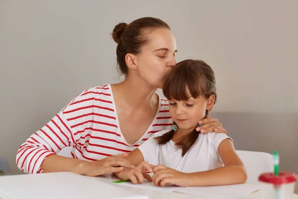
M 154 137 L 149 137 L 148 140 L 143 142 L 138 149 L 142 152 L 144 161 L 148 162 L 151 165 L 157 165 L 158 160 L 158 152 L 159 152 L 159 146 L 157 142 L 154 140 Z

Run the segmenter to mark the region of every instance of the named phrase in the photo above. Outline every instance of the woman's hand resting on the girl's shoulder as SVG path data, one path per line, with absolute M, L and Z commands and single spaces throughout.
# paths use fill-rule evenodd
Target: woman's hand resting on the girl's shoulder
M 196 128 L 196 131 L 201 133 L 218 132 L 226 134 L 226 130 L 223 128 L 222 123 L 216 118 L 210 118 L 208 115 L 205 119 L 199 121 L 199 124 L 203 124 Z

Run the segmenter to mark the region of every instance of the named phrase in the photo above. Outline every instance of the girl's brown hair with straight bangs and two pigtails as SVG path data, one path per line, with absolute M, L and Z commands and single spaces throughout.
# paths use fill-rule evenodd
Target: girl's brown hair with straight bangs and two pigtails
M 214 72 L 212 68 L 202 60 L 188 59 L 179 62 L 168 74 L 162 92 L 168 100 L 181 101 L 188 100 L 190 97 L 198 98 L 199 96 L 209 99 L 211 95 L 214 95 L 214 103 L 217 101 Z M 209 112 L 210 110 L 206 110 L 205 117 Z M 176 147 L 182 149 L 182 156 L 184 156 L 196 142 L 199 133 L 200 132 L 193 130 L 176 143 Z M 158 144 L 165 144 L 172 139 L 173 135 L 174 130 L 170 130 L 154 139 Z

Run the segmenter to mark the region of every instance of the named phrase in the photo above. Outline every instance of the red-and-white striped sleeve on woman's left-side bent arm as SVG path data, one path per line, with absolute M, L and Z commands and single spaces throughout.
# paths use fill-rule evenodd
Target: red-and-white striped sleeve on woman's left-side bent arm
M 60 111 L 20 146 L 16 155 L 16 165 L 25 173 L 40 173 L 40 165 L 45 158 L 73 145 L 73 132 Z

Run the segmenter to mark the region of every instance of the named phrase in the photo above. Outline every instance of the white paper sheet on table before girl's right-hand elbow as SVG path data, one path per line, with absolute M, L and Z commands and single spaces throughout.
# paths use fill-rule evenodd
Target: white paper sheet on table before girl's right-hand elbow
M 239 199 L 260 190 L 260 184 L 244 183 L 212 187 L 187 187 L 175 192 L 196 195 L 208 199 Z

